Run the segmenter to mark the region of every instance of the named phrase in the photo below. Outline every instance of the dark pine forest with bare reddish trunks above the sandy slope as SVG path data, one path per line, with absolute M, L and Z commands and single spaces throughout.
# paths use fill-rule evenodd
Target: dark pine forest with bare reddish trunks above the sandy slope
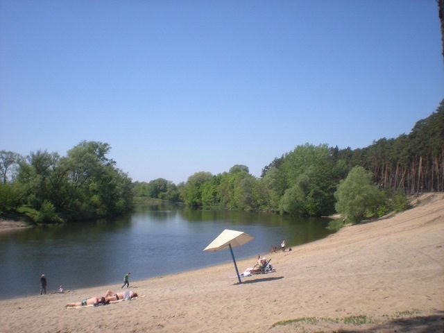
M 373 179 L 384 189 L 407 194 L 444 191 L 444 100 L 408 135 L 379 139 L 355 151 L 346 148 L 337 156 L 349 167 L 360 165 L 372 171 Z

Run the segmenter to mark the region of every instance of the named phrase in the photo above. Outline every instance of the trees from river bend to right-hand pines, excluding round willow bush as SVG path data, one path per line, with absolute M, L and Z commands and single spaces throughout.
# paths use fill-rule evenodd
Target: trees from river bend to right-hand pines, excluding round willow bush
M 201 209 L 323 216 L 337 210 L 335 192 L 355 167 L 369 171 L 377 189 L 384 191 L 380 212 L 399 194 L 444 191 L 444 100 L 408 135 L 382 138 L 366 148 L 304 144 L 276 157 L 260 178 L 248 167 L 234 165 L 217 175 L 199 171 L 178 185 L 163 178 L 135 182 L 135 194 Z

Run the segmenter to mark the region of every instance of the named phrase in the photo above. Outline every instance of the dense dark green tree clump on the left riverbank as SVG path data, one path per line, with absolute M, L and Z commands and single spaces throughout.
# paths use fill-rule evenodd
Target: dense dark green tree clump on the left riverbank
M 36 223 L 93 219 L 133 207 L 133 185 L 107 157 L 110 145 L 80 142 L 60 157 L 0 151 L 0 212 L 27 214 Z

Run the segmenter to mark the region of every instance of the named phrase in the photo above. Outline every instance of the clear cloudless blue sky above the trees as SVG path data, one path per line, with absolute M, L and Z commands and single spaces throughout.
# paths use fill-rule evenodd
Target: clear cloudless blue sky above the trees
M 0 149 L 107 142 L 176 184 L 365 147 L 444 98 L 435 0 L 0 0 Z

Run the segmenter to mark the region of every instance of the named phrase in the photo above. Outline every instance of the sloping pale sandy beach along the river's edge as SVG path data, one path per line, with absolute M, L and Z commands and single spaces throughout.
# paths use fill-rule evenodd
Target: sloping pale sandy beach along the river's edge
M 227 263 L 130 280 L 130 289 L 144 297 L 100 307 L 66 309 L 65 304 L 121 290 L 120 285 L 3 300 L 0 330 L 443 332 L 442 193 L 420 198 L 406 212 L 346 226 L 326 239 L 266 257 L 277 271 L 245 278 L 243 284 Z M 241 260 L 239 270 L 254 263 Z

